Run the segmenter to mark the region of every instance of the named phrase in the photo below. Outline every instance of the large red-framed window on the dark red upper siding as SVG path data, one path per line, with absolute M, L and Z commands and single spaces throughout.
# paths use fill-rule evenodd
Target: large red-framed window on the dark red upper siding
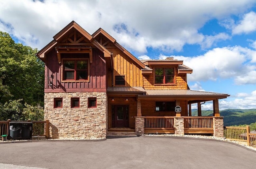
M 63 80 L 88 80 L 87 60 L 63 60 Z

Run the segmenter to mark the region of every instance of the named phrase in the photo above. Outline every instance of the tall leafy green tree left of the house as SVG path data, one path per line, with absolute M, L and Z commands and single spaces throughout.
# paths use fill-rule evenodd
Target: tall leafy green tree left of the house
M 36 52 L 0 32 L 0 103 L 22 99 L 23 103 L 42 105 L 44 63 L 35 56 Z

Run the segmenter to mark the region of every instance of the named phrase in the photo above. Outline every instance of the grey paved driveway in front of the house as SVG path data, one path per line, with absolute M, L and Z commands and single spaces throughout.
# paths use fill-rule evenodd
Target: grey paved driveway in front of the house
M 0 144 L 0 151 L 0 163 L 49 169 L 256 168 L 256 151 L 223 141 L 187 137 L 8 143 Z

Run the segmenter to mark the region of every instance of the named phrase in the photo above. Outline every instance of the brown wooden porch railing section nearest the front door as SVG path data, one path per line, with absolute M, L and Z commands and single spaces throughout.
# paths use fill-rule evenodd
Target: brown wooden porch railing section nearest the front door
M 144 131 L 145 133 L 174 133 L 174 117 L 144 117 Z

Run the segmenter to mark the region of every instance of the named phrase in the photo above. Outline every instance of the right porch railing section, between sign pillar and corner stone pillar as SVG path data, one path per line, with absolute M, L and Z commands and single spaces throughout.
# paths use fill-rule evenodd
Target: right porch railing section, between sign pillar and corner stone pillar
M 213 117 L 184 117 L 184 133 L 213 133 Z

